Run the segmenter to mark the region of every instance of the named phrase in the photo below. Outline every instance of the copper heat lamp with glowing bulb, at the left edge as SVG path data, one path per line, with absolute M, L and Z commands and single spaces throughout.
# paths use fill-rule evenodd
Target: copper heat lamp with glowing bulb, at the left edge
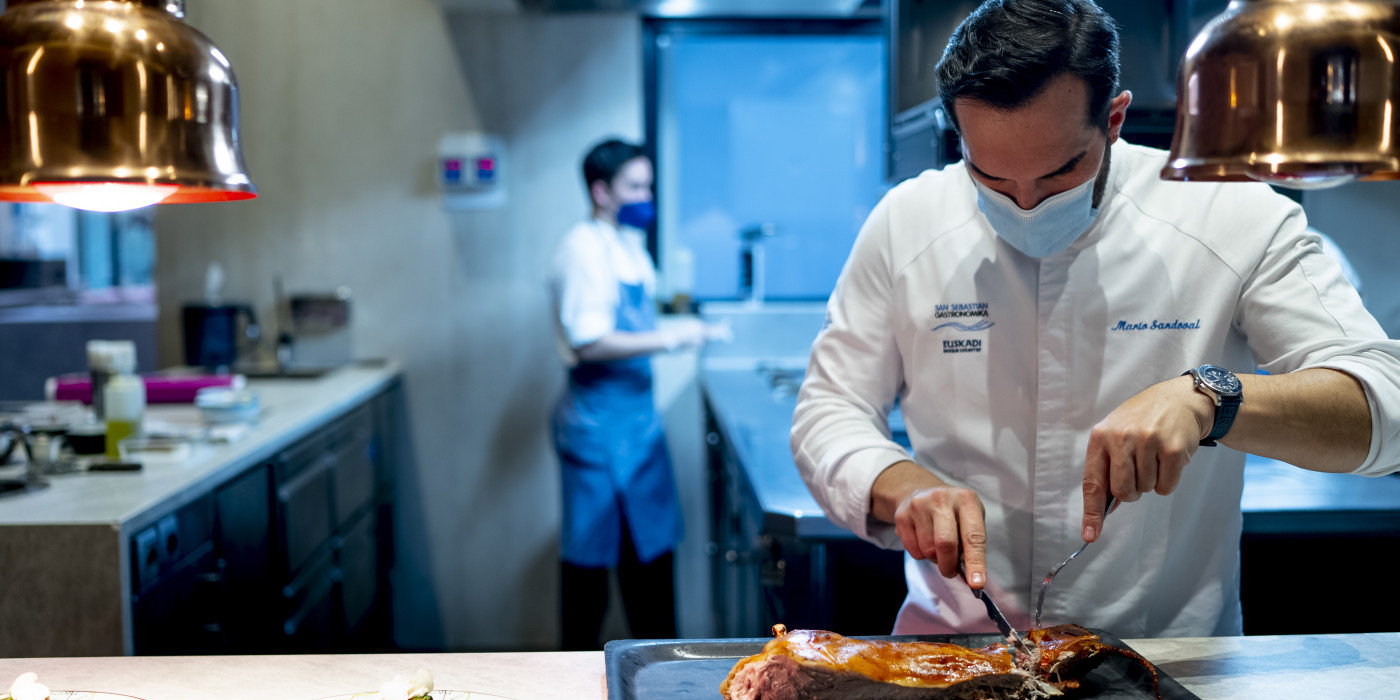
M 0 200 L 118 211 L 258 196 L 228 59 L 185 0 L 8 0 Z

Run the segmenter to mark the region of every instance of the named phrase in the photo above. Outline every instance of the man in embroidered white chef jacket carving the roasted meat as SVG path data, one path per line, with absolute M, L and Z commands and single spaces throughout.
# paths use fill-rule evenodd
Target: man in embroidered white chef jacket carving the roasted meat
M 1028 629 L 1095 542 L 1044 624 L 1239 634 L 1245 452 L 1400 462 L 1400 343 L 1291 200 L 1163 182 L 1166 153 L 1119 139 L 1117 46 L 1088 0 L 969 15 L 938 64 L 965 160 L 889 192 L 830 298 L 792 452 L 834 522 L 909 553 L 896 633 L 995 631 L 969 584 Z

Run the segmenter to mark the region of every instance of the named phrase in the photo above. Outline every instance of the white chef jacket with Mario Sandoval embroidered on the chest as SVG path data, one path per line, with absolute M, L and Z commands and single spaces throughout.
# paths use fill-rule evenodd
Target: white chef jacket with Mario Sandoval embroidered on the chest
M 1396 470 L 1400 343 L 1302 209 L 1266 185 L 1163 182 L 1165 158 L 1119 140 L 1098 218 L 1043 259 L 997 238 L 963 164 L 885 196 L 837 281 L 794 414 L 794 458 L 832 521 L 902 549 L 869 514 L 875 477 L 910 458 L 885 424 L 897 396 L 914 461 L 981 497 L 987 591 L 1026 629 L 1046 571 L 1082 545 L 1091 428 L 1187 368 L 1348 372 L 1372 414 L 1357 473 Z M 1203 447 L 1173 494 L 1120 505 L 1056 577 L 1044 623 L 1239 634 L 1243 463 Z M 960 580 L 907 553 L 906 578 L 896 633 L 994 631 Z

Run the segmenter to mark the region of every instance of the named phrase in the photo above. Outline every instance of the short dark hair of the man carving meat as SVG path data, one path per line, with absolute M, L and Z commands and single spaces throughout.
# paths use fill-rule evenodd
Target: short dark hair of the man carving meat
M 1061 74 L 1089 85 L 1089 123 L 1107 130 L 1119 90 L 1119 28 L 1091 0 L 987 0 L 958 25 L 938 62 L 938 97 L 1015 109 Z

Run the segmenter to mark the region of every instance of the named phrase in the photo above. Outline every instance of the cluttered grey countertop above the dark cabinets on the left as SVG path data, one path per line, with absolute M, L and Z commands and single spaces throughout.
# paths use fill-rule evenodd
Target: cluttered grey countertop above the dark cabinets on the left
M 357 364 L 318 378 L 249 379 L 262 414 L 228 444 L 195 442 L 188 456 L 143 455 L 140 472 L 87 472 L 48 476 L 46 489 L 0 496 L 0 526 L 112 525 L 139 528 L 144 514 L 183 504 L 204 484 L 220 483 L 239 469 L 272 458 L 279 449 L 363 403 L 398 375 L 396 363 Z M 151 405 L 147 419 L 193 427 L 192 405 Z

